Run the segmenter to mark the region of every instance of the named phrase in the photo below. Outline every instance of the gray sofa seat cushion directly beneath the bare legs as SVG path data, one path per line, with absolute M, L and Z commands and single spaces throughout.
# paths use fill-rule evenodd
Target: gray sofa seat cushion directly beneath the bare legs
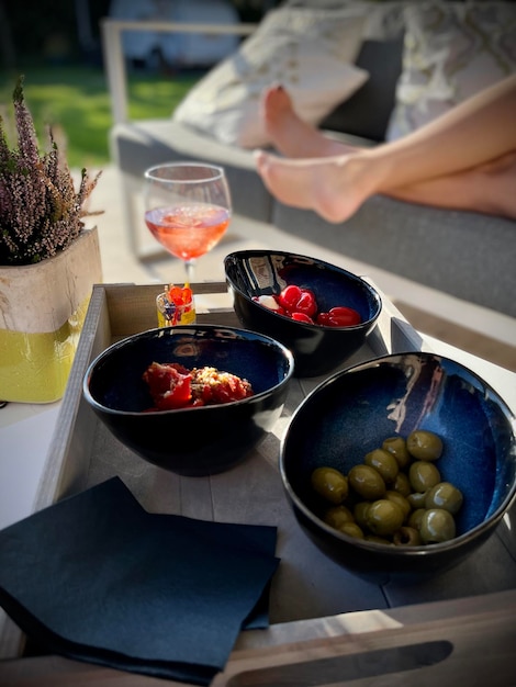
M 277 204 L 279 228 L 388 272 L 516 317 L 516 223 L 377 195 L 341 225 Z

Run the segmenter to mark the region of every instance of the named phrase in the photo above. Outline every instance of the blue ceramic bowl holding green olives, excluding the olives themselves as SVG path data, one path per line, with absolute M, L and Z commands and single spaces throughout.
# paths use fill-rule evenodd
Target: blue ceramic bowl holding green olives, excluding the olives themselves
M 352 539 L 321 519 L 327 505 L 310 476 L 319 465 L 347 474 L 386 437 L 439 435 L 436 462 L 464 496 L 457 537 L 420 547 Z M 301 404 L 283 437 L 281 476 L 295 516 L 332 559 L 363 575 L 435 573 L 483 543 L 515 502 L 516 423 L 504 401 L 458 362 L 431 353 L 393 354 L 337 372 Z

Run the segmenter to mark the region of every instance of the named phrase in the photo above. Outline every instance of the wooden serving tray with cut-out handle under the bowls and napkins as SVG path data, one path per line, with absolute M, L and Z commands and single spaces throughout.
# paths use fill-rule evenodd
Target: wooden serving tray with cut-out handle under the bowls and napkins
M 244 463 L 210 477 L 181 477 L 146 463 L 97 420 L 82 398 L 86 369 L 111 342 L 156 326 L 155 299 L 160 290 L 159 285 L 94 286 L 36 509 L 119 475 L 149 511 L 277 526 L 281 564 L 270 589 L 271 626 L 242 633 L 214 686 L 369 685 L 382 674 L 392 674 L 392 680 L 384 678 L 385 685 L 412 685 L 414 679 L 419 686 L 436 679 L 442 685 L 516 684 L 512 658 L 516 551 L 515 539 L 500 531 L 504 523 L 452 571 L 418 582 L 385 577 L 380 584 L 327 559 L 299 527 L 279 475 L 280 441 L 294 409 L 324 378 L 292 380 L 274 431 Z M 197 284 L 193 290 L 199 295 L 224 294 L 226 285 Z M 428 350 L 392 303 L 383 295 L 382 301 L 377 328 L 346 367 L 391 352 Z M 198 322 L 239 326 L 233 309 L 224 307 L 198 313 Z M 20 650 L 13 650 L 21 641 L 15 630 L 13 626 L 8 641 L 4 628 L 4 658 L 20 655 Z M 486 682 L 479 677 L 482 666 Z M 113 685 L 162 684 L 142 676 L 132 682 L 135 676 L 51 656 L 0 664 L 0 684 L 23 679 L 27 685 L 57 686 L 66 679 L 60 672 L 70 682 L 85 684 L 108 678 Z M 36 674 L 40 682 L 31 682 Z M 2 682 L 8 678 L 13 682 Z

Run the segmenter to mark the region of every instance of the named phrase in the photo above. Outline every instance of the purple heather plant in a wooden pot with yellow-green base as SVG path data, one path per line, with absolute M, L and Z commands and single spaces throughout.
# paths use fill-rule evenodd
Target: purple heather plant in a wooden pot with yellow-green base
M 48 129 L 41 151 L 23 92 L 13 91 L 18 145 L 0 117 L 0 399 L 48 403 L 64 394 L 78 337 L 102 270 L 86 201 Z

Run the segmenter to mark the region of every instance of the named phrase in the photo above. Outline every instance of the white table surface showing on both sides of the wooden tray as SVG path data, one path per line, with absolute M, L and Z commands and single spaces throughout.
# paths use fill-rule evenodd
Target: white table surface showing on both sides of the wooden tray
M 424 336 L 429 350 L 468 367 L 502 396 L 516 416 L 516 373 Z M 11 403 L 0 409 L 0 529 L 34 510 L 60 403 Z

